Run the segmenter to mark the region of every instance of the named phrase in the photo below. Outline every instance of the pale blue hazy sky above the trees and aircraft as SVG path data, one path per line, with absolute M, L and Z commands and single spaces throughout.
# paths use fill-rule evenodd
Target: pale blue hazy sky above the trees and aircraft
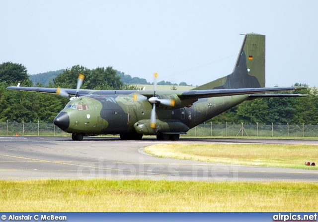
M 82 65 L 201 85 L 266 35 L 266 87 L 318 86 L 318 0 L 1 0 L 0 63 L 29 74 Z M 76 81 L 76 80 L 75 80 Z

